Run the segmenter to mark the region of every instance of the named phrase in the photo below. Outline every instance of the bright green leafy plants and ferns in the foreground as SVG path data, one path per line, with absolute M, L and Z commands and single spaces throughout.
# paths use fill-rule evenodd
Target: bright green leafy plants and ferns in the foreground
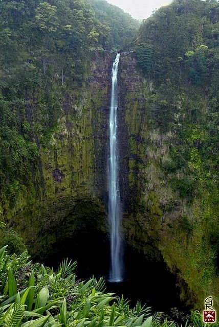
M 27 252 L 8 255 L 0 249 L 0 325 L 3 327 L 177 327 L 163 313 L 105 293 L 102 278 L 77 281 L 76 263 L 64 260 L 57 271 L 29 261 Z M 193 312 L 187 327 L 204 327 Z M 206 324 L 205 324 L 206 325 Z M 211 324 L 213 326 L 213 324 Z M 214 324 L 215 325 L 215 324 Z

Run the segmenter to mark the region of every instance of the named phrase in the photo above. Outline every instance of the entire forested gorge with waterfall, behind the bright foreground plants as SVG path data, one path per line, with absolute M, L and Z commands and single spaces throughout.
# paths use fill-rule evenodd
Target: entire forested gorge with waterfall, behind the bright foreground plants
M 138 37 L 94 0 L 95 14 L 17 3 L 0 4 L 2 246 L 16 231 L 34 262 L 72 258 L 82 279 L 107 279 L 111 264 L 123 283 L 109 289 L 155 310 L 202 311 L 209 295 L 217 309 L 218 3 L 173 1 Z M 122 213 L 112 238 L 107 211 Z

